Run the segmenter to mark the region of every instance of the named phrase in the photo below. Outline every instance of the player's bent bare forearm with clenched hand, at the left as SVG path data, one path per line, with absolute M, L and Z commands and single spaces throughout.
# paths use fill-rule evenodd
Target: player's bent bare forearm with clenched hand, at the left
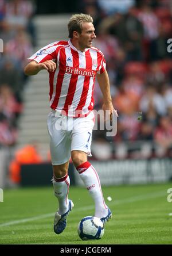
M 46 60 L 42 63 L 37 63 L 35 60 L 32 60 L 25 68 L 25 75 L 36 75 L 41 70 L 47 70 L 53 72 L 56 69 L 56 63 L 53 60 Z

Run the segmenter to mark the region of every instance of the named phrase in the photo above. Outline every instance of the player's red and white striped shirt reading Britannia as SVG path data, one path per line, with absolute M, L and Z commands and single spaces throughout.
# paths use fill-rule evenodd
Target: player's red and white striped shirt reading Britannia
M 57 41 L 41 48 L 30 60 L 56 62 L 49 72 L 50 108 L 67 116 L 87 116 L 93 109 L 93 87 L 96 73 L 105 70 L 102 52 L 95 48 L 78 51 L 71 40 Z

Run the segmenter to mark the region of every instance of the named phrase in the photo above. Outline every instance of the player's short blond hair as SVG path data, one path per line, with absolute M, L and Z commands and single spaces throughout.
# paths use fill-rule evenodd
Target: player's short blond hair
M 69 38 L 73 38 L 73 31 L 82 32 L 83 22 L 93 23 L 93 18 L 89 14 L 73 14 L 68 23 Z

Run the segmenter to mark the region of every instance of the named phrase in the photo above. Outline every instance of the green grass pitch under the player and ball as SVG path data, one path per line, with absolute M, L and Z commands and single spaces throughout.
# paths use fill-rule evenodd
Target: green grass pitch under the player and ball
M 103 238 L 89 241 L 77 235 L 79 221 L 94 213 L 86 189 L 71 186 L 69 198 L 75 207 L 60 235 L 53 232 L 57 199 L 52 187 L 5 189 L 0 202 L 0 244 L 172 244 L 169 188 L 172 183 L 103 187 L 112 219 Z

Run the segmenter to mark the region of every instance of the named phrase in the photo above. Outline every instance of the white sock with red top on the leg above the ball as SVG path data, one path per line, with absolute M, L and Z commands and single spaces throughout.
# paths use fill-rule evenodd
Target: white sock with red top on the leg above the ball
M 76 169 L 79 171 L 80 177 L 84 182 L 89 194 L 95 201 L 95 216 L 99 218 L 107 216 L 108 207 L 104 202 L 97 171 L 89 162 L 82 163 Z

